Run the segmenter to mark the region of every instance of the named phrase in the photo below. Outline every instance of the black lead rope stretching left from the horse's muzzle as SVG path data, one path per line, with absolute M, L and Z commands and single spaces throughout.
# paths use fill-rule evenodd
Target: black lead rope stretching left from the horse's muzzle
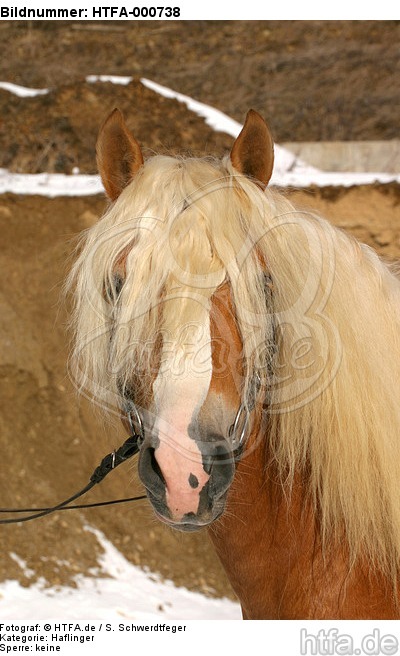
M 116 499 L 115 501 L 103 501 L 100 503 L 88 503 L 71 506 L 70 504 L 79 499 L 84 494 L 89 492 L 95 485 L 101 483 L 102 480 L 109 474 L 113 469 L 116 469 L 118 465 L 125 462 L 132 456 L 136 455 L 139 452 L 138 442 L 142 440 L 142 435 L 133 433 L 122 446 L 119 447 L 116 451 L 108 453 L 104 456 L 100 465 L 96 467 L 93 474 L 90 477 L 89 483 L 79 492 L 73 494 L 71 497 L 52 506 L 51 508 L 0 508 L 0 513 L 32 513 L 26 515 L 25 517 L 11 517 L 9 519 L 1 519 L 0 524 L 19 524 L 20 522 L 29 522 L 33 519 L 39 519 L 39 517 L 45 517 L 50 515 L 50 513 L 58 512 L 59 510 L 73 510 L 78 508 L 95 508 L 98 506 L 109 506 L 111 504 L 117 503 L 126 503 L 128 501 L 139 501 L 141 499 L 146 499 L 146 495 L 129 497 L 126 499 Z

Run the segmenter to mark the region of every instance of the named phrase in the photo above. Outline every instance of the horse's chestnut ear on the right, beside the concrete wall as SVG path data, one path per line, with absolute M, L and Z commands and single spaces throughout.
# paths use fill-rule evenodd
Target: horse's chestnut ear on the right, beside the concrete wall
M 254 109 L 247 112 L 242 131 L 233 144 L 231 162 L 239 173 L 267 186 L 274 166 L 274 142 L 266 122 Z

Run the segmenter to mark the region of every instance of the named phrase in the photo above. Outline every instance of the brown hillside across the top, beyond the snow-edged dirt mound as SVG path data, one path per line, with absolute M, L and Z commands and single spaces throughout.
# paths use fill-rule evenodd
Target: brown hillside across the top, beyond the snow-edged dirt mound
M 398 137 L 399 21 L 2 21 L 0 36 L 0 79 L 26 86 L 148 77 L 238 121 L 253 107 L 278 142 Z

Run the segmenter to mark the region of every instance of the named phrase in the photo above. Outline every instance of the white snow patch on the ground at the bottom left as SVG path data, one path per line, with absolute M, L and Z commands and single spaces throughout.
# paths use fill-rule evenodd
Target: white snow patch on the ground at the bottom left
M 39 580 L 29 588 L 17 581 L 0 584 L 2 620 L 240 620 L 238 603 L 208 598 L 176 587 L 171 581 L 132 565 L 92 526 L 86 530 L 99 541 L 103 554 L 95 576 L 78 575 L 76 588 L 48 588 Z M 14 554 L 15 556 L 15 554 Z M 30 571 L 18 557 L 24 572 Z

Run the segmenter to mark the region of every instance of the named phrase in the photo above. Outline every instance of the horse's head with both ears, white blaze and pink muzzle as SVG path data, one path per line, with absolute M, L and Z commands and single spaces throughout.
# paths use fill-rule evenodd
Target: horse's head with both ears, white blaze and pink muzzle
M 201 207 L 204 197 L 212 197 L 216 188 L 223 188 L 228 195 L 229 191 L 237 194 L 234 189 L 229 190 L 232 174 L 251 179 L 255 193 L 262 193 L 269 181 L 273 142 L 266 123 L 255 111 L 248 113 L 229 160 L 231 176 L 219 169 L 211 179 L 204 174 L 201 180 L 200 175 L 202 184 L 197 189 L 185 187 L 181 180 L 181 197 L 176 196 L 175 190 L 170 195 L 171 207 L 167 208 L 168 218 L 175 216 L 168 234 L 160 236 L 158 248 L 154 243 L 150 246 L 143 234 L 132 235 L 133 242 L 142 240 L 137 266 L 143 269 L 143 279 L 160 275 L 154 258 L 158 254 L 163 258 L 163 249 L 168 248 L 171 257 L 166 260 L 170 270 L 164 272 L 161 297 L 155 299 L 157 307 L 143 310 L 152 313 L 153 322 L 159 324 L 149 347 L 151 357 L 142 367 L 132 362 L 130 373 L 119 377 L 122 405 L 131 421 L 136 419 L 142 424 L 139 476 L 157 516 L 187 531 L 210 524 L 224 511 L 236 461 L 250 432 L 257 393 L 258 379 L 253 372 L 247 385 L 251 389 L 244 398 L 243 381 L 248 372 L 244 370 L 243 339 L 231 284 L 208 227 L 199 226 L 205 222 Z M 123 197 L 125 200 L 129 187 L 142 185 L 143 190 L 146 187 L 153 194 L 162 195 L 162 190 L 172 185 L 168 171 L 163 176 L 159 167 L 152 173 L 151 165 L 144 163 L 140 146 L 118 110 L 111 113 L 100 130 L 97 161 L 107 195 L 115 207 Z M 176 168 L 179 169 L 179 162 Z M 127 199 L 121 208 L 129 218 L 130 212 L 137 215 L 138 211 L 137 207 L 129 207 Z M 155 232 L 160 228 L 158 217 L 154 218 L 155 231 L 149 225 L 144 227 L 143 216 L 140 219 L 142 233 L 148 230 L 150 241 L 157 239 Z M 223 227 L 229 229 L 229 225 Z M 114 258 L 113 289 L 108 292 L 109 297 L 118 298 L 114 314 L 120 312 L 117 304 L 125 300 L 122 290 L 129 283 L 127 270 L 135 266 L 128 263 L 129 258 L 129 244 Z M 135 284 L 139 281 L 137 276 Z M 145 288 L 142 291 L 146 294 Z M 111 341 L 117 340 L 118 329 L 113 330 Z

